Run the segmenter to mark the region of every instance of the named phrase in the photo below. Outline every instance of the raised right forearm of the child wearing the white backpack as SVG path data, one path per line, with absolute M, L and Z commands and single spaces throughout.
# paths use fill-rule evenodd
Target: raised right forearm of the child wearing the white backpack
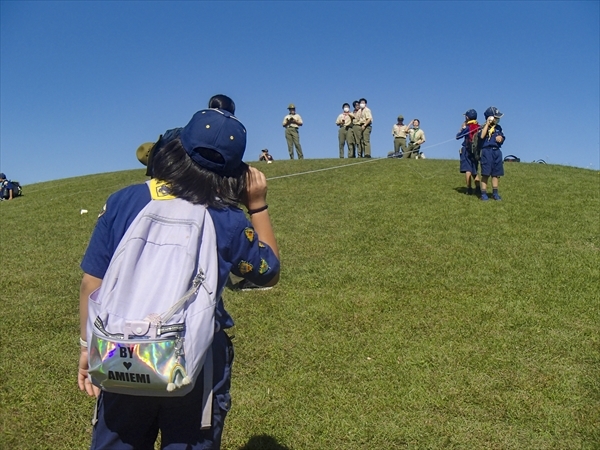
M 248 186 L 244 203 L 248 211 L 255 211 L 264 208 L 267 205 L 267 179 L 265 175 L 254 167 L 248 168 Z M 250 220 L 252 226 L 258 235 L 258 238 L 271 247 L 275 256 L 279 259 L 279 247 L 271 225 L 269 211 L 263 209 L 260 212 L 251 214 Z M 279 273 L 275 275 L 266 286 L 274 286 L 279 281 Z

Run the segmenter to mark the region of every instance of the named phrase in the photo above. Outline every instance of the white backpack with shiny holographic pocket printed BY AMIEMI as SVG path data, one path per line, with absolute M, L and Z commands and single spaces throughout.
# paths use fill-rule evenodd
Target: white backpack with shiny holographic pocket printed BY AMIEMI
M 217 283 L 215 227 L 206 207 L 151 200 L 89 298 L 92 382 L 108 392 L 183 396 L 206 361 L 203 406 L 210 407 Z

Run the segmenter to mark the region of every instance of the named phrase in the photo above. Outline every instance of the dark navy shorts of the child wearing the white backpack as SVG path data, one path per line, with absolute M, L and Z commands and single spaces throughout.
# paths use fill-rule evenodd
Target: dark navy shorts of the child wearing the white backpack
M 164 449 L 208 450 L 221 447 L 225 416 L 231 406 L 233 345 L 224 331 L 213 342 L 212 427 L 201 430 L 203 374 L 194 390 L 183 397 L 139 397 L 102 392 L 96 406 L 97 422 L 91 449 L 153 450 L 161 433 Z

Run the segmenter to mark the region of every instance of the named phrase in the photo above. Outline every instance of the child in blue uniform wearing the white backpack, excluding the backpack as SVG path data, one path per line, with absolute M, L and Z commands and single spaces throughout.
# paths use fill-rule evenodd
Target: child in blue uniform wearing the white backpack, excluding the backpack
M 152 159 L 152 191 L 126 187 L 111 195 L 99 216 L 81 263 L 81 355 L 78 384 L 97 399 L 92 449 L 153 449 L 160 430 L 162 448 L 218 449 L 230 407 L 233 346 L 225 329 L 233 320 L 218 303 L 213 351 L 213 408 L 210 429 L 201 429 L 203 376 L 183 397 L 142 397 L 102 391 L 88 378 L 87 305 L 104 277 L 119 241 L 137 214 L 157 193 L 207 206 L 217 235 L 218 291 L 229 273 L 261 286 L 279 280 L 277 241 L 267 210 L 267 183 L 259 170 L 242 162 L 246 129 L 228 111 L 197 112 Z M 162 188 L 162 189 L 161 189 Z M 250 221 L 238 207 L 243 204 Z

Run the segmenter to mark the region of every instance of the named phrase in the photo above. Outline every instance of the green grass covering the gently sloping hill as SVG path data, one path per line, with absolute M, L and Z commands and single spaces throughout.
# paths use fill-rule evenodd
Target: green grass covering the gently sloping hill
M 486 203 L 457 168 L 387 159 L 270 181 L 282 277 L 225 292 L 224 449 L 600 448 L 600 173 L 506 164 L 503 201 Z M 143 180 L 0 203 L 1 448 L 89 445 L 79 262 L 106 197 Z

